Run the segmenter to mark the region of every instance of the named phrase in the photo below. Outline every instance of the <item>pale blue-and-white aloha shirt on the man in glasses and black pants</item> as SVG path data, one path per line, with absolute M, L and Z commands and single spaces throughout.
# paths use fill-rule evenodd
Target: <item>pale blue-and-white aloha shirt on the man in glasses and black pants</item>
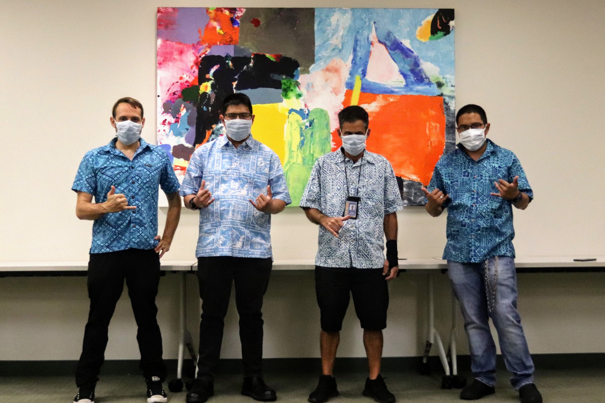
M 191 156 L 180 195 L 195 195 L 206 181 L 215 201 L 200 210 L 196 257 L 272 257 L 271 214 L 250 204 L 270 185 L 273 199 L 290 204 L 280 158 L 252 136 L 237 149 L 222 135 Z

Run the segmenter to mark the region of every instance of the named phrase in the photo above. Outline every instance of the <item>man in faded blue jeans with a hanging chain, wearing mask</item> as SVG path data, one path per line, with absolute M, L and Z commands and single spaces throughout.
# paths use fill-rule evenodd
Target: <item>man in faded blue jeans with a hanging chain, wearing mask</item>
M 489 123 L 483 108 L 458 111 L 458 149 L 443 155 L 424 189 L 426 209 L 439 216 L 448 209 L 443 259 L 465 319 L 474 381 L 460 392 L 465 400 L 495 392 L 492 319 L 512 386 L 522 403 L 541 403 L 517 311 L 512 207 L 525 210 L 534 198 L 517 156 L 486 139 Z

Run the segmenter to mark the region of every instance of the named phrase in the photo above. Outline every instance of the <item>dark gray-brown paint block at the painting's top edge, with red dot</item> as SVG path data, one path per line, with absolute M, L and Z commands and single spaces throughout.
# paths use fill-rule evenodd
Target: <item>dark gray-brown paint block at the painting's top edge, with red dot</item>
M 250 22 L 255 18 L 258 27 Z M 315 9 L 246 8 L 240 19 L 240 47 L 292 57 L 301 74 L 309 73 L 315 63 Z

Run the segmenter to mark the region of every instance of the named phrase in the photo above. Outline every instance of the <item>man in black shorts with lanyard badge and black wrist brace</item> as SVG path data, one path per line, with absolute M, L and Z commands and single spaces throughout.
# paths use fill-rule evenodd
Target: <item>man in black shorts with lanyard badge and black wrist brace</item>
M 348 106 L 338 120 L 342 148 L 316 161 L 300 203 L 309 221 L 319 225 L 315 292 L 321 312 L 322 375 L 309 401 L 338 396 L 333 368 L 352 294 L 370 367 L 362 393 L 390 403 L 395 397 L 380 374 L 382 329 L 387 327 L 387 280 L 399 271 L 396 211 L 403 207 L 401 193 L 387 159 L 365 149 L 370 129 L 364 108 Z

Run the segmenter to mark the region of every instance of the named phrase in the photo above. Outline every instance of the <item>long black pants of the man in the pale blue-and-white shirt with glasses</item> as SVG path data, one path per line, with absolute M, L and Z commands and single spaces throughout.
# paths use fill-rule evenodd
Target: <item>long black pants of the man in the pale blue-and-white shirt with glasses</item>
M 213 256 L 198 258 L 201 321 L 198 378 L 214 381 L 223 342 L 231 286 L 235 282 L 235 305 L 240 315 L 241 356 L 244 376 L 263 373 L 263 296 L 269 285 L 272 259 Z

